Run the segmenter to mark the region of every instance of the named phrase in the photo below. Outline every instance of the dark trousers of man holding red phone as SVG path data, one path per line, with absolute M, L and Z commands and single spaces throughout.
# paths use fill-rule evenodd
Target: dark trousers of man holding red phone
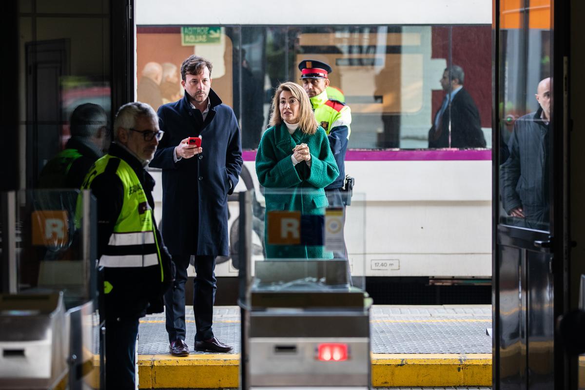
M 168 341 L 185 340 L 185 283 L 187 268 L 191 255 L 173 255 L 177 266 L 177 274 L 173 288 L 164 294 L 164 311 Z M 208 340 L 214 337 L 211 329 L 214 315 L 215 291 L 215 256 L 195 256 L 195 272 L 193 281 L 193 311 L 195 313 L 195 341 Z

